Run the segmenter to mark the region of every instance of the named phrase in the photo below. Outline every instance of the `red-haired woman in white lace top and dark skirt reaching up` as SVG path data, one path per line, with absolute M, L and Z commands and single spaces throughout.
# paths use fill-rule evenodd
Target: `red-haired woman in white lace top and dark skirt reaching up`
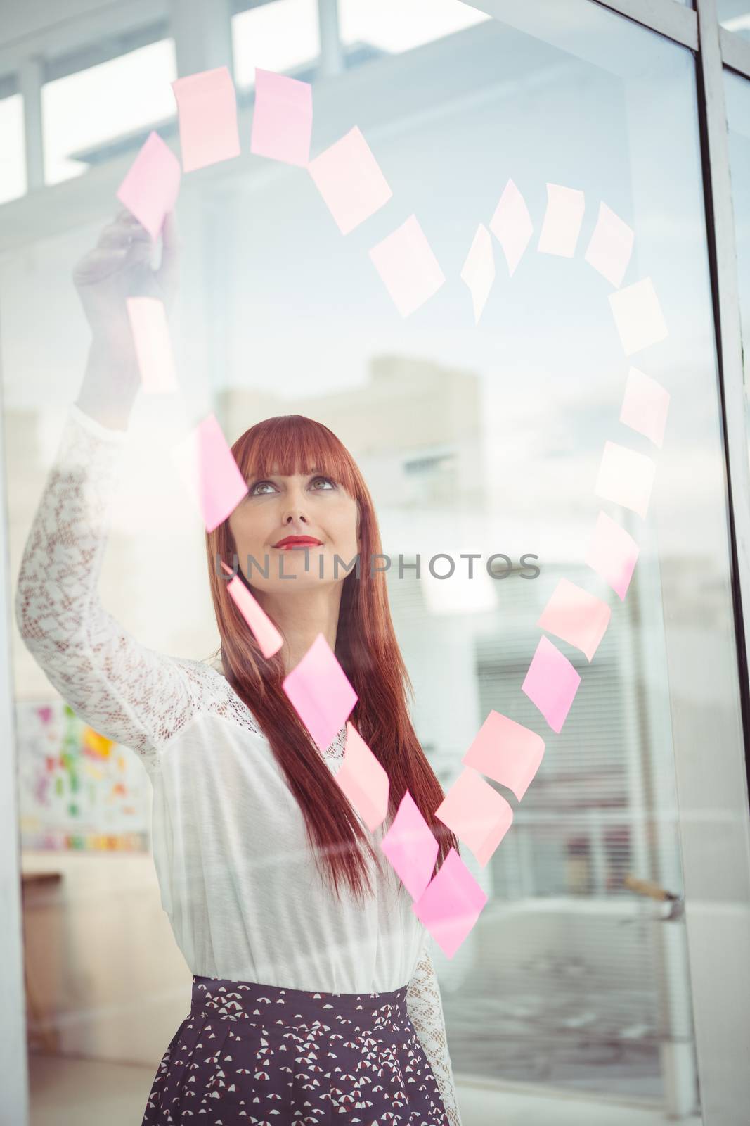
M 193 982 L 143 1124 L 201 1115 L 217 1126 L 457 1126 L 427 936 L 378 849 L 406 787 L 439 839 L 439 863 L 457 842 L 433 813 L 443 793 L 408 718 L 385 578 L 333 566 L 335 555 L 350 563 L 380 551 L 349 453 L 299 415 L 260 422 L 234 444 L 249 492 L 207 535 L 220 661 L 155 653 L 98 601 L 139 384 L 125 297 L 170 303 L 172 216 L 162 243 L 153 269 L 147 233 L 123 212 L 76 267 L 91 349 L 16 598 L 48 679 L 88 723 L 133 748 L 153 784 L 162 905 Z M 227 593 L 224 571 L 237 563 L 283 637 L 269 660 Z M 335 783 L 346 727 L 322 754 L 281 687 L 320 633 L 358 694 L 351 722 L 390 777 L 389 815 L 373 834 Z

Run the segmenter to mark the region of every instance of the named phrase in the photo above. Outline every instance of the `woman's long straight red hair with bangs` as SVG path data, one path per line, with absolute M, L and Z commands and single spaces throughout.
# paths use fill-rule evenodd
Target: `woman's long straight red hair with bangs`
M 355 568 L 343 580 L 335 654 L 358 695 L 350 721 L 390 779 L 386 823 L 408 788 L 437 839 L 436 870 L 451 847 L 458 850 L 458 841 L 435 816 L 444 794 L 409 718 L 408 698 L 414 697 L 414 688 L 396 641 L 385 573 L 370 573 L 370 561 L 381 553 L 381 540 L 372 499 L 356 463 L 332 430 L 301 414 L 257 422 L 237 438 L 232 453 L 247 482 L 272 474 L 309 473 L 315 467 L 356 501 L 361 565 L 359 578 Z M 314 852 L 324 858 L 320 870 L 329 886 L 340 895 L 347 885 L 361 900 L 372 893 L 369 859 L 379 863 L 380 857 L 283 691 L 286 670 L 280 653 L 263 656 L 227 592 L 222 563 L 253 589 L 242 568 L 236 570 L 228 519 L 207 533 L 206 548 L 225 676 L 271 745 L 305 817 Z M 278 622 L 274 625 L 281 631 Z

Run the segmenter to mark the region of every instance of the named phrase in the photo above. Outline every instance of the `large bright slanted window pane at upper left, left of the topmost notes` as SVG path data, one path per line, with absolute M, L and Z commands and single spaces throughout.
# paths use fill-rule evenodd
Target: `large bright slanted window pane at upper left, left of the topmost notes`
M 115 137 L 174 117 L 174 42 L 162 39 L 42 88 L 47 184 L 81 176 Z

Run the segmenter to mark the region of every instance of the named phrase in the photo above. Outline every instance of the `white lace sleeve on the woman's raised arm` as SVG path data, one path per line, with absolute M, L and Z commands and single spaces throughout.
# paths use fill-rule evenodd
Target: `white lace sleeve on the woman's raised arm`
M 151 774 L 160 747 L 191 717 L 200 662 L 146 649 L 99 602 L 107 509 L 125 438 L 71 408 L 26 540 L 16 622 L 73 711 L 136 751 Z

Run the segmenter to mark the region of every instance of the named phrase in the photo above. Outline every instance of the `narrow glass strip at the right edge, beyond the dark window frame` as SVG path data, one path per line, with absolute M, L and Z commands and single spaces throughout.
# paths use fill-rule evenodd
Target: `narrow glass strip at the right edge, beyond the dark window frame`
M 744 386 L 750 422 L 750 81 L 724 71 L 726 81 L 726 120 L 734 204 L 737 267 L 740 283 L 742 356 Z

